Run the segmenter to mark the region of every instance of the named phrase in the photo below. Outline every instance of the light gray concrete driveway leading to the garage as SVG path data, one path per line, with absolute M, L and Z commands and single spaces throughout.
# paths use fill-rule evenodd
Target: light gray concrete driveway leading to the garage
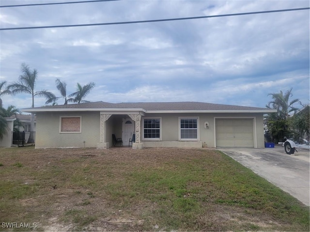
M 295 152 L 294 155 L 287 155 L 281 146 L 275 148 L 219 148 L 219 150 L 290 193 L 302 203 L 310 205 L 309 149 L 297 148 L 298 153 Z

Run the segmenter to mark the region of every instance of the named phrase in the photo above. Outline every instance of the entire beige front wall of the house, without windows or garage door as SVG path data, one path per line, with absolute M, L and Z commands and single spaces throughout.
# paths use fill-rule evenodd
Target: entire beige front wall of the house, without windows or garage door
M 60 133 L 60 116 L 81 116 L 82 117 L 82 132 L 81 133 Z M 106 143 L 112 146 L 112 133 L 117 138 L 122 137 L 122 120 L 126 115 L 112 115 L 106 121 Z M 199 140 L 197 143 L 184 143 L 179 141 L 179 117 L 199 117 Z M 176 147 L 197 147 L 199 145 L 206 145 L 208 147 L 215 146 L 215 117 L 227 118 L 241 118 L 241 117 L 255 117 L 256 130 L 254 145 L 257 147 L 264 147 L 263 135 L 263 114 L 262 113 L 238 113 L 238 114 L 223 114 L 223 113 L 189 113 L 189 114 L 146 114 L 145 117 L 161 117 L 162 123 L 162 141 L 143 141 L 144 146 L 176 146 Z M 143 120 L 143 117 L 142 117 Z M 209 128 L 204 128 L 204 122 L 209 122 Z M 143 134 L 141 121 L 141 136 Z M 72 113 L 37 113 L 37 127 L 36 127 L 36 148 L 42 147 L 96 147 L 99 143 L 100 134 L 100 113 L 99 112 L 72 112 Z M 168 143 L 173 142 L 173 143 Z

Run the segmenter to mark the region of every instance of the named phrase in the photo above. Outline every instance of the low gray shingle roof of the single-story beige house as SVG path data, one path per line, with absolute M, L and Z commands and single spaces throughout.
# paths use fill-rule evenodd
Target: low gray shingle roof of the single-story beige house
M 145 111 L 268 111 L 267 108 L 237 106 L 237 105 L 224 105 L 205 102 L 122 102 L 122 103 L 109 103 L 109 102 L 89 102 L 79 104 L 67 105 L 53 105 L 33 108 L 36 111 L 50 111 L 48 109 L 143 109 Z M 29 111 L 26 111 L 29 110 Z M 30 109 L 24 109 L 25 112 L 30 112 Z

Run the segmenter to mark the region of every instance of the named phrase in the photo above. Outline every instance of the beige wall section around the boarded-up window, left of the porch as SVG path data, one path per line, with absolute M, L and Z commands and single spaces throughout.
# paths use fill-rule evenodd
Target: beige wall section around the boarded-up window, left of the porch
M 84 147 L 84 145 L 96 147 L 99 143 L 99 112 L 37 113 L 36 115 L 35 148 Z M 60 133 L 60 116 L 81 116 L 81 133 Z

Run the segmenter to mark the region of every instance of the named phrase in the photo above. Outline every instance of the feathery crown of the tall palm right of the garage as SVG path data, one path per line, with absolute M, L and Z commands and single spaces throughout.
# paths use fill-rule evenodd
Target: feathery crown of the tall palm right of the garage
M 296 111 L 298 110 L 298 108 L 294 107 L 293 104 L 296 102 L 301 104 L 299 99 L 294 99 L 289 102 L 290 97 L 293 96 L 292 89 L 293 88 L 287 90 L 284 95 L 282 91 L 280 91 L 279 93 L 268 94 L 268 96 L 272 96 L 273 101 L 268 102 L 268 105 L 266 105 L 266 107 L 271 108 L 270 105 L 272 105 L 273 109 L 277 109 L 279 119 L 286 120 L 291 112 L 294 111 L 294 113 L 296 113 Z

